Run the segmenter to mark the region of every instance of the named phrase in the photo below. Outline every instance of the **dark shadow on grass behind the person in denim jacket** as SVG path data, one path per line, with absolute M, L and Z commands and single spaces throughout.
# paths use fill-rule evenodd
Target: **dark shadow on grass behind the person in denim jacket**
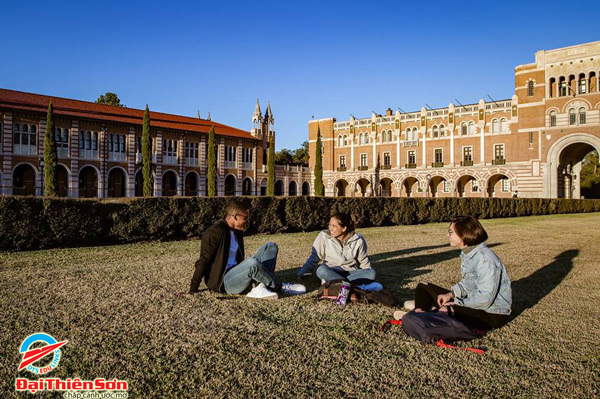
M 511 320 L 532 308 L 567 277 L 573 269 L 573 259 L 579 250 L 570 249 L 560 253 L 554 261 L 527 277 L 512 282 L 513 312 Z

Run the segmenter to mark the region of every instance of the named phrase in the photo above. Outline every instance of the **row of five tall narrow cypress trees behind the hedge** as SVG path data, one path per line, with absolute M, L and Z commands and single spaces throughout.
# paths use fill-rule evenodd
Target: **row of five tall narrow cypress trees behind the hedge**
M 54 107 L 52 100 L 48 104 L 46 115 L 46 133 L 44 136 L 44 195 L 58 197 L 58 180 L 56 168 L 58 165 L 58 152 L 54 135 Z M 323 155 L 321 143 L 321 128 L 317 133 L 315 154 L 315 195 L 323 196 Z M 152 141 L 150 138 L 150 110 L 148 104 L 144 111 L 142 122 L 142 177 L 144 197 L 152 196 Z M 208 196 L 217 195 L 217 142 L 215 129 L 211 127 L 208 134 Z M 267 195 L 275 195 L 275 140 L 269 140 L 269 153 L 267 156 Z

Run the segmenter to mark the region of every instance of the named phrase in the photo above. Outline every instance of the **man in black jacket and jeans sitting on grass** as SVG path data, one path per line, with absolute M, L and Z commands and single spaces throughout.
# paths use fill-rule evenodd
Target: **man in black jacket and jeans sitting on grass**
M 190 294 L 198 292 L 204 278 L 206 286 L 215 292 L 241 294 L 249 298 L 277 299 L 278 293 L 298 295 L 306 292 L 302 284 L 281 283 L 275 275 L 277 244 L 267 242 L 250 258 L 244 260 L 243 230 L 248 223 L 248 207 L 232 200 L 225 208 L 225 219 L 218 221 L 202 235 L 200 259 L 190 284 Z

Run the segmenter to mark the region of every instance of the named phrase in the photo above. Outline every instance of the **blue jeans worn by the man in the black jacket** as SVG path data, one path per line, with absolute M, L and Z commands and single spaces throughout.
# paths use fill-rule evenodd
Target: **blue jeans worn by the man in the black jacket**
M 271 291 L 279 291 L 281 283 L 273 274 L 278 252 L 277 244 L 267 242 L 250 258 L 229 269 L 223 278 L 225 292 L 241 294 L 253 281 L 263 283 Z

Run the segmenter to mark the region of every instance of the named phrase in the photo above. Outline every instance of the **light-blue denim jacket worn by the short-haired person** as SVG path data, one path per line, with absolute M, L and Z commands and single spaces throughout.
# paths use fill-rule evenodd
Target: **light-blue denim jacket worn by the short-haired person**
M 454 302 L 488 313 L 510 314 L 512 292 L 504 264 L 485 242 L 460 253 L 463 279 L 452 287 Z

